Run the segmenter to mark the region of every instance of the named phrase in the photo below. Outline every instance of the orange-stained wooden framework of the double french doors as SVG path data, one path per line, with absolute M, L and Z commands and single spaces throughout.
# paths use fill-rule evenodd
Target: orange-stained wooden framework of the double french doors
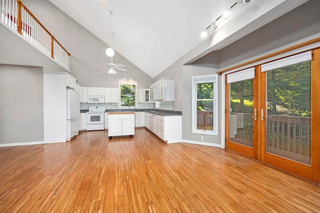
M 266 94 L 266 72 L 261 72 L 260 65 L 255 67 L 255 77 L 259 79 L 258 82 L 253 84 L 253 91 L 260 91 L 259 94 Z M 227 77 L 227 76 L 226 76 Z M 229 84 L 225 82 L 225 148 L 230 150 L 237 150 L 243 155 L 257 159 L 266 164 L 277 167 L 285 172 L 300 176 L 302 178 L 311 180 L 315 183 L 320 182 L 320 134 L 317 131 L 320 129 L 320 48 L 315 48 L 312 50 L 312 61 L 311 61 L 311 164 L 306 165 L 303 163 L 298 163 L 293 160 L 286 158 L 281 158 L 279 156 L 266 153 L 265 146 L 265 134 L 266 126 L 265 120 L 260 120 L 260 109 L 265 108 L 266 100 L 265 96 L 258 95 L 257 100 L 253 100 L 257 105 L 258 118 L 257 128 L 253 130 L 253 136 L 259 136 L 253 140 L 256 140 L 256 148 L 249 148 L 243 145 L 229 141 L 229 122 L 230 122 L 230 112 L 229 112 Z M 264 109 L 266 112 L 266 109 Z M 255 146 L 254 146 L 255 147 Z

